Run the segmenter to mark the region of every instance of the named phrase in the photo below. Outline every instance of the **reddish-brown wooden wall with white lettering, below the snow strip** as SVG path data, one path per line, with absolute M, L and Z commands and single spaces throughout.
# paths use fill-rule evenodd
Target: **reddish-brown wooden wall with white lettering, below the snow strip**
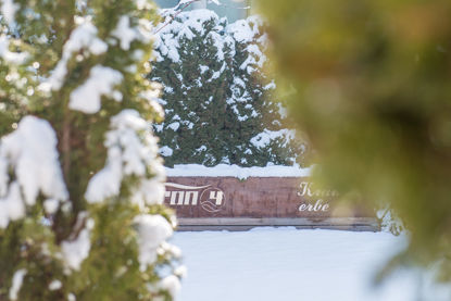
M 334 190 L 315 189 L 309 177 L 170 177 L 165 203 L 178 217 L 328 217 L 373 216 L 343 208 Z

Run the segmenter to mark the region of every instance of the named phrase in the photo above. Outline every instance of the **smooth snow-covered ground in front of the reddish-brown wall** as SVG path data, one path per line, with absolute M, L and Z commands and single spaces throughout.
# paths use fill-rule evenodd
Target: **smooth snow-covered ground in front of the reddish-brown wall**
M 256 228 L 176 233 L 173 242 L 188 267 L 179 301 L 451 300 L 413 271 L 372 285 L 405 242 L 387 233 Z

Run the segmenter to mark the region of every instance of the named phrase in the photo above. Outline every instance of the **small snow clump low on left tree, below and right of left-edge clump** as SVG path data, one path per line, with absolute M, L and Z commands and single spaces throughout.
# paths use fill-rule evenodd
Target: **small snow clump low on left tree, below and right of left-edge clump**
M 85 222 L 86 220 L 86 222 Z M 91 218 L 87 218 L 86 212 L 78 214 L 77 224 L 85 223 L 85 227 L 75 239 L 67 239 L 61 243 L 64 262 L 72 269 L 79 271 L 83 261 L 89 255 L 91 248 L 90 233 L 95 226 Z

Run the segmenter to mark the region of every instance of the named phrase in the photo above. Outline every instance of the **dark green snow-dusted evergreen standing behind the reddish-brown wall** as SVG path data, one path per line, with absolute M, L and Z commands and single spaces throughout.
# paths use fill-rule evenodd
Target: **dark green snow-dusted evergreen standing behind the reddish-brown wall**
M 163 14 L 149 78 L 164 86 L 166 118 L 154 127 L 165 164 L 302 163 L 305 146 L 287 129 L 276 85 L 263 72 L 263 22 L 229 24 L 209 10 Z

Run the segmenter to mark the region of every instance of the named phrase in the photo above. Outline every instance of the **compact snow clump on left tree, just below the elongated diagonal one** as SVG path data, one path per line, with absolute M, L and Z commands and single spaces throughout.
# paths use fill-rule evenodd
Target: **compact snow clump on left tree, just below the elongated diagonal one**
M 101 97 L 115 97 L 114 86 L 123 79 L 122 74 L 111 67 L 96 65 L 91 68 L 89 78 L 71 93 L 68 108 L 85 113 L 97 113 L 101 108 Z M 118 99 L 122 99 L 120 95 Z

